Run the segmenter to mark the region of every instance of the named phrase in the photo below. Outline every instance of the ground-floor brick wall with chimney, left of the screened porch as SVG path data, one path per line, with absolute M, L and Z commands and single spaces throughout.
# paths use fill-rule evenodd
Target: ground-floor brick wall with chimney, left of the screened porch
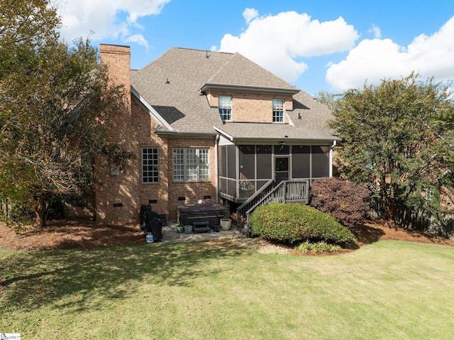
M 167 138 L 154 132 L 157 122 L 138 102 L 131 100 L 130 50 L 126 46 L 100 45 L 101 62 L 109 65 L 109 76 L 114 84 L 125 87 L 126 109 L 118 112 L 109 123 L 108 134 L 135 154 L 124 172 L 111 175 L 111 167 L 100 160 L 95 171 L 100 182 L 96 185 L 96 220 L 106 224 L 138 224 L 141 204 L 152 203 L 159 214 L 176 219 L 177 207 L 193 204 L 199 199 L 206 203 L 216 202 L 216 160 L 214 138 Z M 142 182 L 141 149 L 159 150 L 159 182 Z M 210 176 L 203 182 L 174 182 L 172 172 L 172 148 L 209 148 Z M 211 197 L 206 198 L 204 197 Z M 179 200 L 184 197 L 184 200 Z M 118 207 L 115 207 L 118 206 Z

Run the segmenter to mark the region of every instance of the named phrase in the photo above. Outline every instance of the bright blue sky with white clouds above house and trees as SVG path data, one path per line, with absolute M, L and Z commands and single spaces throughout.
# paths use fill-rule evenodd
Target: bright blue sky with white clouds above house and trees
M 238 52 L 311 94 L 365 80 L 454 79 L 454 1 L 55 0 L 62 38 L 131 46 L 139 69 L 171 47 Z

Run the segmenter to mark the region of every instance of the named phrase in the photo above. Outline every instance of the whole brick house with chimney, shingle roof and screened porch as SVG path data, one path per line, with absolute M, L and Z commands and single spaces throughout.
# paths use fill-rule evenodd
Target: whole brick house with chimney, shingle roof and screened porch
M 110 126 L 132 150 L 123 172 L 97 165 L 96 219 L 138 221 L 141 204 L 245 202 L 267 183 L 332 175 L 331 112 L 238 53 L 171 48 L 130 70 L 130 48 L 100 45 L 128 111 Z

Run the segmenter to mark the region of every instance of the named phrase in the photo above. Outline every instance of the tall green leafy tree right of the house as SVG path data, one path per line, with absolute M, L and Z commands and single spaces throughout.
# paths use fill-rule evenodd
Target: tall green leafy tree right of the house
M 338 149 L 341 173 L 375 188 L 389 222 L 414 195 L 453 192 L 454 103 L 449 85 L 411 74 L 349 89 L 340 97 L 320 97 L 333 109 L 332 126 L 343 140 Z

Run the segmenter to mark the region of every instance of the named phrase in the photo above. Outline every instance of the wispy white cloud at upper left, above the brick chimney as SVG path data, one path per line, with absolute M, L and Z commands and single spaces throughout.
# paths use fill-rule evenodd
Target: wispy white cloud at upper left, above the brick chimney
M 55 0 L 62 17 L 61 36 L 67 41 L 76 38 L 103 40 L 120 38 L 148 46 L 137 20 L 159 14 L 170 0 Z

